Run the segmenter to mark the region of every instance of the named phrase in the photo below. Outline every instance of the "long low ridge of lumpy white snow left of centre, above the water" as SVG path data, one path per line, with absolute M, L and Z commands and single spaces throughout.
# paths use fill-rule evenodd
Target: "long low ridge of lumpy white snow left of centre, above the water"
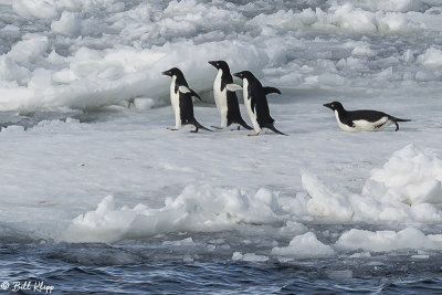
M 166 169 L 177 170 L 176 167 Z M 96 210 L 76 217 L 64 239 L 115 242 L 165 232 L 232 230 L 241 223 L 265 224 L 280 220 L 282 217 L 274 212 L 276 207 L 275 194 L 265 189 L 248 194 L 235 189 L 188 186 L 178 198 L 167 198 L 160 209 L 145 204 L 116 209 L 114 198 L 107 196 Z

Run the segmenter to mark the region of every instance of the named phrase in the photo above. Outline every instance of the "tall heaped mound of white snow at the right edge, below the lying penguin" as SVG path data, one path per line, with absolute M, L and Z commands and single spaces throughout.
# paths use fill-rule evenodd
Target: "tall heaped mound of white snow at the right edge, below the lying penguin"
M 440 222 L 441 160 L 408 145 L 393 152 L 382 168 L 371 170 L 361 193 L 325 185 L 303 172 L 303 187 L 311 198 L 299 201 L 309 215 L 323 222 L 418 221 Z

